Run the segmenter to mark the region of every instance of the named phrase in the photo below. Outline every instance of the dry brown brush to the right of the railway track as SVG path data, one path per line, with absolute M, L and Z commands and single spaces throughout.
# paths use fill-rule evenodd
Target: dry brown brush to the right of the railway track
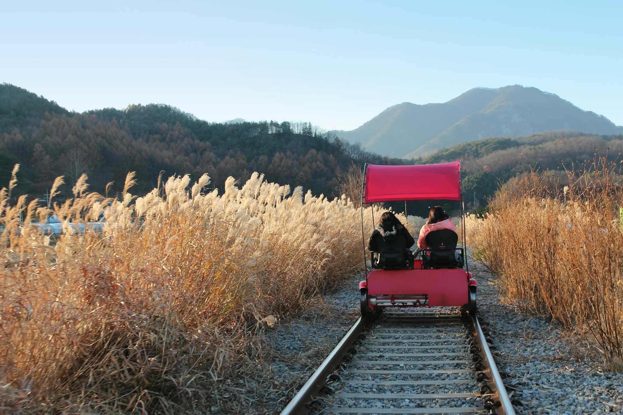
M 531 172 L 498 192 L 477 245 L 509 299 L 596 340 L 612 367 L 623 353 L 621 161 L 596 154 L 564 182 Z

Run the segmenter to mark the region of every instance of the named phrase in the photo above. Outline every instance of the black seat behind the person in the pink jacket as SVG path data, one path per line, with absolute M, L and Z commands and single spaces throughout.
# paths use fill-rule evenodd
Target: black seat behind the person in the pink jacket
M 428 249 L 422 251 L 422 268 L 463 268 L 463 250 L 457 250 L 459 235 L 442 229 L 426 235 Z

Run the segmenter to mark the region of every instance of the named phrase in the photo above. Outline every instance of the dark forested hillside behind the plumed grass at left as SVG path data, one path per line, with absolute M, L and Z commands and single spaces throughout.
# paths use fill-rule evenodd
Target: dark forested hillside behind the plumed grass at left
M 21 193 L 42 195 L 57 175 L 65 175 L 70 189 L 86 173 L 93 190 L 114 182 L 114 193 L 136 171 L 141 193 L 155 187 L 161 171 L 193 180 L 207 172 L 221 189 L 230 175 L 247 180 L 258 171 L 269 181 L 333 195 L 353 162 L 399 162 L 331 139 L 310 123 L 208 123 L 155 104 L 69 113 L 7 84 L 0 85 L 0 103 L 1 185 L 19 163 Z

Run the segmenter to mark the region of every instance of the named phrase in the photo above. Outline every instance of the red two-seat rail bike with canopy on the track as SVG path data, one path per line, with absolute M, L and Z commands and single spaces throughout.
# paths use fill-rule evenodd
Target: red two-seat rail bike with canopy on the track
M 469 272 L 465 255 L 460 161 L 421 166 L 366 164 L 361 198 L 364 241 L 364 203 L 450 200 L 460 202 L 462 217 L 461 246 L 457 246 L 459 236 L 454 233 L 454 246 L 452 240 L 446 246 L 430 246 L 427 237 L 429 249 L 416 254 L 411 250 L 372 252 L 372 268 L 366 264 L 366 281 L 359 283 L 361 315 L 368 318 L 377 307 L 459 306 L 475 313 L 477 282 Z M 365 252 L 364 245 L 367 259 Z

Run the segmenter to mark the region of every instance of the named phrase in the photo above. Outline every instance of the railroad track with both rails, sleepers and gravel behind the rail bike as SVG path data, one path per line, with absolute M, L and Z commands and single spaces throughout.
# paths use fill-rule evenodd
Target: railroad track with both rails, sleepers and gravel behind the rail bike
M 476 317 L 434 309 L 361 318 L 282 415 L 506 414 L 506 389 Z

